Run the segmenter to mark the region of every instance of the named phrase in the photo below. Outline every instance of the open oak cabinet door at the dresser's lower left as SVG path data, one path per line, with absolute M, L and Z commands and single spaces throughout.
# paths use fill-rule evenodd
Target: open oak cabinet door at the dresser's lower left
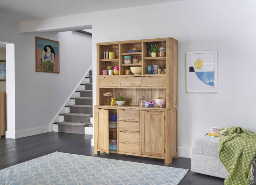
M 97 109 L 98 111 L 98 149 L 109 153 L 109 136 L 108 136 L 108 110 Z

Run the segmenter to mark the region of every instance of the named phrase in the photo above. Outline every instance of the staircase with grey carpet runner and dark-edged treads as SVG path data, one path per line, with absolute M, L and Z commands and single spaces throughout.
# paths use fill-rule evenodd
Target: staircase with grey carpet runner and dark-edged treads
M 84 127 L 92 127 L 92 70 L 89 71 L 89 77 L 85 78 L 90 78 L 90 83 L 81 84 L 85 86 L 85 90 L 80 90 L 80 97 L 70 98 L 71 101 L 75 100 L 75 104 L 65 106 L 69 107 L 69 113 L 60 114 L 64 116 L 64 121 L 53 123 L 58 124 L 59 132 L 85 134 Z

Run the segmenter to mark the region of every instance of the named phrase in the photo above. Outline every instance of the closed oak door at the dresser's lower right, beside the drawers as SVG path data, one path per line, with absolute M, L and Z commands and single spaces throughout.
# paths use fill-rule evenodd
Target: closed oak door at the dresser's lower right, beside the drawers
M 164 157 L 164 112 L 141 111 L 141 154 Z

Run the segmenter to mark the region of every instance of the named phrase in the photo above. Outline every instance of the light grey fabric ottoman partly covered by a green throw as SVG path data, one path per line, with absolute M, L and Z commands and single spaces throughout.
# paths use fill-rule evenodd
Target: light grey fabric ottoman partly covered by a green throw
M 225 137 L 225 136 L 222 136 Z M 198 137 L 192 143 L 191 171 L 226 179 L 228 171 L 219 158 L 218 141 L 221 137 Z M 256 182 L 254 164 L 254 184 Z

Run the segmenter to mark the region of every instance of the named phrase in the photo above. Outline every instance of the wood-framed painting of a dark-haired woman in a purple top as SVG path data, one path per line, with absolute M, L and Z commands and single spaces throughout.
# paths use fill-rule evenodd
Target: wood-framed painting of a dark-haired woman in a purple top
M 60 42 L 36 37 L 36 72 L 60 73 Z

